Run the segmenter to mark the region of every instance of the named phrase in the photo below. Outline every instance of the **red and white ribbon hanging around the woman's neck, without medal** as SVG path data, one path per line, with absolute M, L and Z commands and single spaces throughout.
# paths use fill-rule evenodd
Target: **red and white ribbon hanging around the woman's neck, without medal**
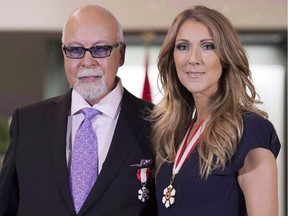
M 185 139 L 183 139 L 177 154 L 176 154 L 176 158 L 175 158 L 175 162 L 173 165 L 173 170 L 172 170 L 172 175 L 175 176 L 177 175 L 177 173 L 179 172 L 179 170 L 181 169 L 181 167 L 183 166 L 183 164 L 185 163 L 185 161 L 187 160 L 187 158 L 189 157 L 189 155 L 192 153 L 192 151 L 194 150 L 196 144 L 198 143 L 204 128 L 206 126 L 208 122 L 208 119 L 206 119 L 205 121 L 203 121 L 201 124 L 199 124 L 194 132 L 194 134 L 192 135 L 191 141 L 189 142 L 189 145 L 187 146 L 187 148 L 185 149 L 184 146 L 186 145 L 187 141 L 188 141 L 188 136 L 189 133 L 191 131 L 191 127 L 189 128 Z

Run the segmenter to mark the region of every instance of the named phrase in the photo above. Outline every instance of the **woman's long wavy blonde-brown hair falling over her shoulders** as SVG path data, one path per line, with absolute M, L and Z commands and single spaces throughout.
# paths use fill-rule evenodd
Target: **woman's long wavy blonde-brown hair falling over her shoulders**
M 251 82 L 249 63 L 230 21 L 204 6 L 184 10 L 174 19 L 158 56 L 158 78 L 164 97 L 151 115 L 157 171 L 163 162 L 174 162 L 195 109 L 192 94 L 177 77 L 173 59 L 177 33 L 186 20 L 201 22 L 208 27 L 223 68 L 219 89 L 210 98 L 209 122 L 197 148 L 200 176 L 207 178 L 213 169 L 224 168 L 235 153 L 243 134 L 243 113 L 254 112 L 264 118 L 267 114 L 255 106 L 260 101 Z

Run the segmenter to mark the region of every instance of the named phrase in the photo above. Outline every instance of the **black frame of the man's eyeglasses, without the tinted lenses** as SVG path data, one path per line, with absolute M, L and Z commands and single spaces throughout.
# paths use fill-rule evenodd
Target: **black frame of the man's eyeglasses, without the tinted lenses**
M 85 54 L 86 54 L 87 51 L 90 52 L 90 54 L 91 54 L 91 56 L 92 56 L 93 58 L 107 58 L 107 57 L 109 57 L 109 56 L 111 55 L 112 50 L 113 50 L 114 48 L 120 47 L 120 46 L 122 46 L 123 44 L 125 44 L 125 43 L 120 41 L 120 42 L 117 42 L 117 43 L 111 44 L 111 45 L 98 45 L 98 46 L 92 46 L 92 47 L 90 47 L 90 48 L 78 47 L 78 46 L 68 46 L 68 47 L 66 47 L 66 46 L 63 44 L 62 49 L 63 49 L 66 57 L 67 57 L 67 58 L 70 58 L 70 59 L 81 59 L 81 58 L 83 58 L 83 57 L 85 56 Z M 72 57 L 72 55 L 69 55 L 69 48 L 70 48 L 70 49 L 71 49 L 71 48 L 82 49 L 82 50 L 84 50 L 83 55 L 77 56 L 77 57 L 75 57 L 75 56 Z M 104 50 L 107 50 L 107 54 L 104 55 L 104 56 L 95 56 L 95 55 L 93 54 L 93 51 L 92 51 L 92 50 L 95 49 L 95 48 L 104 48 Z

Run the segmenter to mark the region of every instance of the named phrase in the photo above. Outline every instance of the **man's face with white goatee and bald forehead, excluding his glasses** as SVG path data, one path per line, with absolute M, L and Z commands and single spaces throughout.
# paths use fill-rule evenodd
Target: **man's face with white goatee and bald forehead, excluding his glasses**
M 65 47 L 90 48 L 118 43 L 115 21 L 95 11 L 80 13 L 69 19 L 63 34 Z M 94 58 L 89 51 L 83 58 L 72 59 L 64 54 L 67 80 L 83 98 L 97 103 L 115 87 L 118 68 L 124 63 L 125 45 L 113 48 L 111 55 Z

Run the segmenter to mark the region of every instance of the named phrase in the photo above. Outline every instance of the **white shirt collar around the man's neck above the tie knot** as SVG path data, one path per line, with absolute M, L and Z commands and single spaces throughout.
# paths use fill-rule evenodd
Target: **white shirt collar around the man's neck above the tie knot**
M 120 102 L 123 96 L 123 86 L 121 79 L 117 77 L 116 87 L 102 98 L 93 108 L 98 109 L 104 115 L 110 118 L 116 118 L 120 108 Z M 71 115 L 76 114 L 80 109 L 91 107 L 90 104 L 74 89 L 72 91 Z

